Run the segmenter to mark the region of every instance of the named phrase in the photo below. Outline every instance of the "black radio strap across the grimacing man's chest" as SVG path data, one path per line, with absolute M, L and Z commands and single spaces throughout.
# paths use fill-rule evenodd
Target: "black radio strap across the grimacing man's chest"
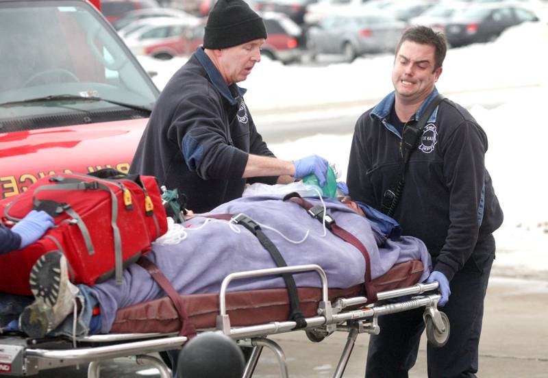
M 403 186 L 406 184 L 405 177 L 409 157 L 416 147 L 419 147 L 419 141 L 421 140 L 426 122 L 432 115 L 432 112 L 434 112 L 434 109 L 436 109 L 436 106 L 438 106 L 443 99 L 445 99 L 445 97 L 441 93 L 438 93 L 438 95 L 430 101 L 428 107 L 421 115 L 421 118 L 419 118 L 419 121 L 403 127 L 403 136 L 401 137 L 401 172 L 399 174 L 399 179 L 395 189 L 386 190 L 382 199 L 381 210 L 388 216 L 394 215 L 396 207 L 399 203 L 399 197 L 401 197 L 401 192 L 403 191 Z

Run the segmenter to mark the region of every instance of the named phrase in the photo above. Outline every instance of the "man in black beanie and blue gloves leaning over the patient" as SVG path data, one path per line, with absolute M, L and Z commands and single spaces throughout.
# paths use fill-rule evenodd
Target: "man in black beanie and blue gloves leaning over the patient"
M 288 184 L 314 173 L 325 184 L 323 157 L 273 155 L 245 105 L 245 89 L 236 85 L 260 62 L 265 39 L 262 18 L 247 3 L 219 0 L 203 47 L 162 90 L 129 172 L 178 188 L 195 212 L 241 197 L 246 183 Z

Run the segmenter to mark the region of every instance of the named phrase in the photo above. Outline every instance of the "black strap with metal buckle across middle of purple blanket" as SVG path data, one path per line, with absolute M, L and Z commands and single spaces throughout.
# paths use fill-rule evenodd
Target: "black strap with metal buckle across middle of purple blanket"
M 264 234 L 260 225 L 258 225 L 255 220 L 249 218 L 249 216 L 240 214 L 236 216 L 236 218 L 233 218 L 231 214 L 208 214 L 208 218 L 234 220 L 234 222 L 245 227 L 259 240 L 262 247 L 264 247 L 266 251 L 269 251 L 272 260 L 274 260 L 278 268 L 287 266 L 286 260 L 284 260 L 282 254 L 279 253 L 279 250 L 276 248 L 272 240 Z M 307 325 L 306 319 L 299 308 L 299 294 L 297 292 L 297 284 L 295 283 L 295 279 L 293 279 L 293 275 L 291 273 L 282 273 L 281 276 L 286 283 L 289 294 L 289 303 L 291 305 L 291 314 L 289 319 L 297 323 L 295 329 L 305 328 Z

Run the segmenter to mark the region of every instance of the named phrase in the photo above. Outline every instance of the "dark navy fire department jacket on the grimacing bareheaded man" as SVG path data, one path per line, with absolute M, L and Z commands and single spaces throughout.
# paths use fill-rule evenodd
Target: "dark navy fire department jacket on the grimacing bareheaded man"
M 437 90 L 421 105 L 418 119 Z M 401 136 L 388 123 L 395 93 L 356 123 L 347 185 L 354 201 L 381 209 L 384 191 L 401 172 Z M 408 162 L 406 184 L 394 214 L 402 234 L 425 242 L 434 270 L 448 279 L 464 266 L 477 242 L 490 237 L 503 219 L 484 165 L 487 137 L 462 106 L 445 100 L 426 123 Z M 491 251 L 490 253 L 494 253 Z

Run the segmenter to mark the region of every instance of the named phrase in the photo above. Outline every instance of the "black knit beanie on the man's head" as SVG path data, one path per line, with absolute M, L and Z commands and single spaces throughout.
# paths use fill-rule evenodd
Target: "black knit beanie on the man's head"
M 245 1 L 219 0 L 210 12 L 203 47 L 226 49 L 259 38 L 266 39 L 266 28 Z

